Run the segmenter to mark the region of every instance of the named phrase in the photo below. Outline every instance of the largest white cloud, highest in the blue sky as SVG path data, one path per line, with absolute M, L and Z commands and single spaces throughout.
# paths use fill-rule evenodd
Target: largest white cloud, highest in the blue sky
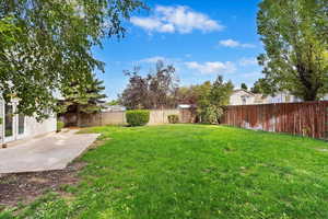
M 132 16 L 131 23 L 149 32 L 188 34 L 194 30 L 203 33 L 222 31 L 218 21 L 211 20 L 207 14 L 192 11 L 188 7 L 157 5 L 154 14 L 148 18 Z

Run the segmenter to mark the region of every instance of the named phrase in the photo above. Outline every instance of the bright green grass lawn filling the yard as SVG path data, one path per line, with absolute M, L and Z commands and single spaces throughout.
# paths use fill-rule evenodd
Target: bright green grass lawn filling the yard
M 19 218 L 328 218 L 324 141 L 207 125 L 91 131 L 106 140 L 81 158 L 74 199 L 48 194 Z

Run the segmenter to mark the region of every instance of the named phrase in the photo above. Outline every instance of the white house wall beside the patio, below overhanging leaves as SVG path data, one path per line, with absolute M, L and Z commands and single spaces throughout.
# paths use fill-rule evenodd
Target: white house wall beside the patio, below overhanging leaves
M 10 103 L 13 108 L 16 107 L 17 102 Z M 43 122 L 37 122 L 35 117 L 25 116 L 24 117 L 24 132 L 19 135 L 19 115 L 13 115 L 13 135 L 12 137 L 5 137 L 5 103 L 3 99 L 0 99 L 0 117 L 2 118 L 2 124 L 0 125 L 0 142 L 11 142 L 19 139 L 28 139 L 38 136 L 43 136 L 49 132 L 54 132 L 57 129 L 57 116 L 50 114 L 49 118 Z

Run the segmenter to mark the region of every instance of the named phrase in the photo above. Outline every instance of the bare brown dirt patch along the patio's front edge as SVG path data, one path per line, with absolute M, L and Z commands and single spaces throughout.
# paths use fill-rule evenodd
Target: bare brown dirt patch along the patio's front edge
M 83 162 L 74 162 L 60 171 L 0 175 L 0 206 L 28 204 L 48 191 L 61 193 L 62 185 L 79 182 L 78 171 L 85 165 Z

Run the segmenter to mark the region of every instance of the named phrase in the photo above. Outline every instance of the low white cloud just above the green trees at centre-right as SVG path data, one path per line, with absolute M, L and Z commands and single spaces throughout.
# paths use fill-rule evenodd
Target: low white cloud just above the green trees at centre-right
M 203 64 L 199 64 L 197 61 L 189 61 L 185 62 L 185 65 L 189 69 L 195 69 L 201 73 L 208 74 L 208 73 L 232 73 L 235 72 L 236 67 L 233 62 L 226 61 L 208 61 Z

